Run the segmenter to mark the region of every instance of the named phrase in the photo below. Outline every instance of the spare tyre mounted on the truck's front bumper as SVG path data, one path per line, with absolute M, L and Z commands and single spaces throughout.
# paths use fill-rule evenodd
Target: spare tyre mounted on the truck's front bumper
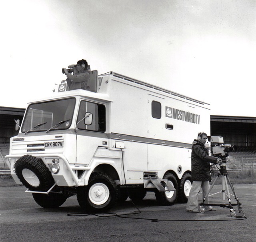
M 22 184 L 31 191 L 48 191 L 54 184 L 50 170 L 34 156 L 20 157 L 14 168 Z

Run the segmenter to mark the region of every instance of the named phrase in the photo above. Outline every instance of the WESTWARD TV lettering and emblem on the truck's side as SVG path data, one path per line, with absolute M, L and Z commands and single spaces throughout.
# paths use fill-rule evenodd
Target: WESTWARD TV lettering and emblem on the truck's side
M 200 115 L 179 110 L 176 108 L 165 107 L 165 116 L 168 118 L 174 118 L 177 120 L 182 120 L 193 124 L 200 124 Z

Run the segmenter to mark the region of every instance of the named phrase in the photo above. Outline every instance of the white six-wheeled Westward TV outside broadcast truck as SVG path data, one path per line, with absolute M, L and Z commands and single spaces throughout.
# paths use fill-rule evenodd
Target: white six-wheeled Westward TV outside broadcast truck
M 44 208 L 73 195 L 88 212 L 146 192 L 161 205 L 186 202 L 192 141 L 210 134 L 209 104 L 115 72 L 90 71 L 89 85 L 67 91 L 64 82 L 28 104 L 5 157 L 15 182 Z

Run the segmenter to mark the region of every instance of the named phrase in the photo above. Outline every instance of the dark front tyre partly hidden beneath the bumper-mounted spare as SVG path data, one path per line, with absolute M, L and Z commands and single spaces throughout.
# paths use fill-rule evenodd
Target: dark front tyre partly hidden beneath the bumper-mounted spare
M 58 193 L 32 193 L 34 200 L 43 208 L 58 208 L 67 200 L 67 196 Z

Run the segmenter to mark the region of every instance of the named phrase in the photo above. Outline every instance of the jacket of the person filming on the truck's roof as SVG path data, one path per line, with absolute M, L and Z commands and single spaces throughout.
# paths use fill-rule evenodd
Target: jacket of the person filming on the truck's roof
M 90 74 L 87 70 L 81 70 L 77 75 L 67 74 L 67 83 L 69 90 L 84 89 L 88 90 L 88 80 Z

